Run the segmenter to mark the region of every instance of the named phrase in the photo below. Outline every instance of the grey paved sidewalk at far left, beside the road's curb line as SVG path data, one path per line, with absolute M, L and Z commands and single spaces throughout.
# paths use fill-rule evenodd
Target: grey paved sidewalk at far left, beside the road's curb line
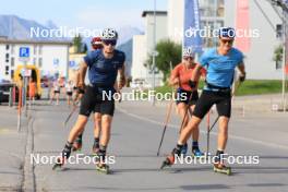
M 17 132 L 17 111 L 0 106 L 0 191 L 21 191 L 27 136 L 27 118 Z

